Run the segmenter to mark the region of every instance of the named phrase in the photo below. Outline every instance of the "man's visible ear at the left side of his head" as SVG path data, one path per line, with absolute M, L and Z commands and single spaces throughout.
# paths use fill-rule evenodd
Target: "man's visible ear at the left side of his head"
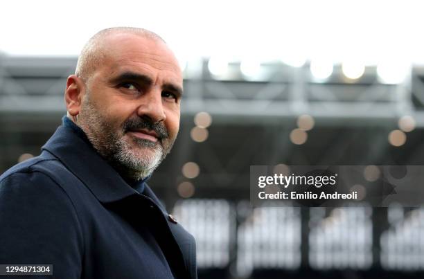
M 76 75 L 69 75 L 65 89 L 65 103 L 72 118 L 80 113 L 82 96 L 85 93 L 85 83 Z

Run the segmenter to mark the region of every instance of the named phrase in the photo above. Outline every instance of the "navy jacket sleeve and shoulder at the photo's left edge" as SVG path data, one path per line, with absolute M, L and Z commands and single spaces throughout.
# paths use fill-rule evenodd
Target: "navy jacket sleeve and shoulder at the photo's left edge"
M 0 177 L 0 262 L 53 264 L 58 278 L 79 278 L 84 239 L 76 208 L 35 158 Z

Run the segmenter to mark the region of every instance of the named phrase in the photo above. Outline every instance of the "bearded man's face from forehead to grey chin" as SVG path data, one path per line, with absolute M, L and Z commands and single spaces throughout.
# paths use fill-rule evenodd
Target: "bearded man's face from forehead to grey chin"
M 142 179 L 170 152 L 179 129 L 182 73 L 154 39 L 116 34 L 86 82 L 78 124 L 125 178 Z

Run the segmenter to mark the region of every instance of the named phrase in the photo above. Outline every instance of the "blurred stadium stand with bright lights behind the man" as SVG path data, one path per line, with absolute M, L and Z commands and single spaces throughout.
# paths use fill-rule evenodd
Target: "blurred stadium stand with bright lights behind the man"
M 159 34 L 170 29 L 165 39 L 185 54 L 205 38 L 195 37 L 196 30 L 204 28 L 202 33 L 211 36 L 203 46 L 224 38 L 181 59 L 185 92 L 179 137 L 149 181 L 195 235 L 200 278 L 423 278 L 424 208 L 250 206 L 250 165 L 370 165 L 364 179 L 373 175 L 373 165 L 424 165 L 424 55 L 416 39 L 416 9 L 407 3 L 333 1 L 321 12 L 320 1 L 308 3 L 309 8 L 299 2 L 279 11 L 271 4 L 240 6 L 248 8 L 240 15 L 247 24 L 240 38 L 231 21 L 240 3 L 229 4 L 230 11 L 211 7 L 212 15 L 224 14 L 221 21 L 215 19 L 218 27 L 205 28 L 195 15 L 199 29 L 182 28 L 177 35 L 169 35 L 172 26 L 109 22 L 108 13 L 98 15 L 101 24 L 85 32 L 114 25 L 145 26 Z M 199 12 L 196 3 L 190 5 Z M 407 5 L 409 13 L 403 13 Z M 264 16 L 250 17 L 256 9 L 274 21 L 288 19 L 267 25 Z M 88 39 L 71 51 L 51 51 L 55 38 L 39 43 L 37 34 L 29 34 L 37 23 L 29 26 L 33 17 L 25 16 L 26 26 L 0 30 L 0 173 L 37 156 L 60 125 L 66 78 Z M 265 24 L 252 20 L 249 25 L 250 19 Z M 5 13 L 3 20 L 16 19 Z M 281 27 L 287 23 L 292 27 Z M 316 25 L 335 31 L 317 35 Z M 283 28 L 287 32 L 279 42 L 288 46 L 258 55 L 270 42 L 242 46 L 252 40 L 246 39 L 251 26 L 251 32 L 263 32 L 259 41 L 276 39 L 275 30 Z M 22 33 L 31 40 L 17 35 Z M 63 45 L 62 33 L 58 36 Z M 12 46 L 12 37 L 19 46 Z M 193 37 L 197 43 L 186 49 Z

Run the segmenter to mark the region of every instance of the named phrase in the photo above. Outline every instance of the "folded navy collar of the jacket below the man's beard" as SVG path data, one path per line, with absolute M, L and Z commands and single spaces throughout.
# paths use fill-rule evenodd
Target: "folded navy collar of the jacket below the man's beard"
M 85 135 L 84 135 L 85 136 Z M 137 194 L 94 147 L 69 125 L 61 125 L 42 150 L 51 152 L 103 203 Z

